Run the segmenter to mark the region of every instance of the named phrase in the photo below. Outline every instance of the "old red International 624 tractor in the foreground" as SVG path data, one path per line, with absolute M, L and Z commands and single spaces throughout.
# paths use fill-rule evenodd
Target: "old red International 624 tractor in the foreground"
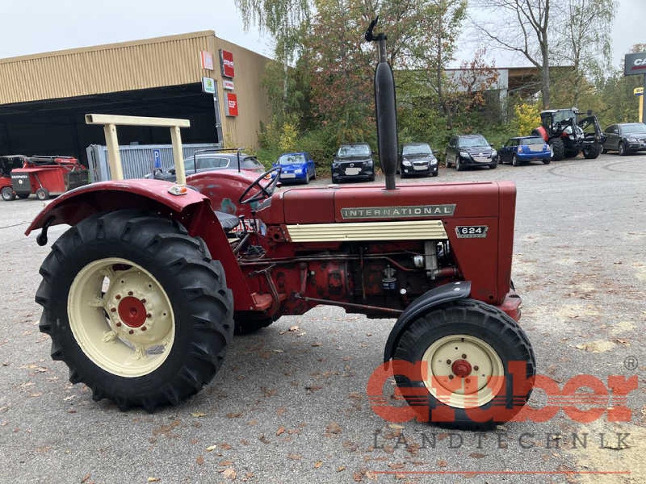
M 385 189 L 275 192 L 280 166 L 256 179 L 204 172 L 187 187 L 178 168 L 178 183 L 94 183 L 36 217 L 26 234 L 40 228 L 41 245 L 48 227 L 72 226 L 52 245 L 36 294 L 40 329 L 72 383 L 123 410 L 176 405 L 213 379 L 234 333 L 337 305 L 397 318 L 384 361 L 420 421 L 482 427 L 525 405 L 535 361 L 511 283 L 516 188 L 395 187 L 394 83 L 373 26 Z M 221 212 L 233 192 L 236 214 Z M 400 373 L 402 362 L 412 369 Z

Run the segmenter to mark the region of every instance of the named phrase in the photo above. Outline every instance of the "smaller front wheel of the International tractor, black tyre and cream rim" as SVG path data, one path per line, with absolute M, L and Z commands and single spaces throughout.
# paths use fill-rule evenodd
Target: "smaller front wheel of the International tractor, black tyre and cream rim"
M 395 382 L 419 421 L 438 421 L 452 410 L 454 418 L 443 425 L 459 429 L 483 429 L 511 419 L 528 401 L 536 373 L 534 351 L 516 321 L 473 299 L 433 308 L 413 321 L 399 339 L 394 359 Z M 397 374 L 397 360 L 415 365 L 412 379 Z M 514 395 L 509 363 L 517 361 L 525 362 L 528 385 L 518 385 L 521 393 Z M 454 378 L 461 378 L 455 391 L 449 385 Z M 438 392 L 439 385 L 446 388 Z M 407 396 L 408 388 L 416 391 Z M 470 408 L 504 411 L 483 422 L 472 418 Z

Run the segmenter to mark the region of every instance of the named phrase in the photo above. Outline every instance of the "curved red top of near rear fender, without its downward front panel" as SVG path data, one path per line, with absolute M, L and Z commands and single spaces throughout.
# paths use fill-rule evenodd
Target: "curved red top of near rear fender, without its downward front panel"
M 187 190 L 183 195 L 169 193 L 174 183 L 154 179 L 130 179 L 121 181 L 102 181 L 65 192 L 49 203 L 36 216 L 25 230 L 28 236 L 32 230 L 47 223 L 76 225 L 79 221 L 96 212 L 118 210 L 120 208 L 165 207 L 174 214 L 182 214 L 187 208 L 209 205 L 209 199 L 199 192 Z

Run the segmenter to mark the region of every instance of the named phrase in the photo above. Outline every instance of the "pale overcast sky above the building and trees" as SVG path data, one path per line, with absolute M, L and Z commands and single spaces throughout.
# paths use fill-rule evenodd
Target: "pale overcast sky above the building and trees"
M 620 0 L 612 29 L 615 65 L 630 46 L 646 43 L 645 19 L 646 0 Z M 255 28 L 244 31 L 233 0 L 0 0 L 0 58 L 207 29 L 271 55 L 271 39 Z M 469 53 L 463 42 L 461 57 Z M 525 64 L 506 52 L 494 57 L 497 66 Z

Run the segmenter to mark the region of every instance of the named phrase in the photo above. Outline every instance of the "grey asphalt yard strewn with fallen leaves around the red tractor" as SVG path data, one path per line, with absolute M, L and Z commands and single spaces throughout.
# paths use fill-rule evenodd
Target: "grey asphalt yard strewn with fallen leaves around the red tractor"
M 23 236 L 43 207 L 30 199 L 0 202 L 0 482 L 645 482 L 646 156 L 441 170 L 428 181 L 494 179 L 517 183 L 513 274 L 539 373 L 561 387 L 579 374 L 638 375 L 630 421 L 578 423 L 561 411 L 482 436 L 389 427 L 366 382 L 394 321 L 334 307 L 234 339 L 213 383 L 180 407 L 149 415 L 94 403 L 50 361 L 38 331 L 34 294 L 49 249 Z M 588 434 L 586 448 L 573 448 L 573 432 Z

